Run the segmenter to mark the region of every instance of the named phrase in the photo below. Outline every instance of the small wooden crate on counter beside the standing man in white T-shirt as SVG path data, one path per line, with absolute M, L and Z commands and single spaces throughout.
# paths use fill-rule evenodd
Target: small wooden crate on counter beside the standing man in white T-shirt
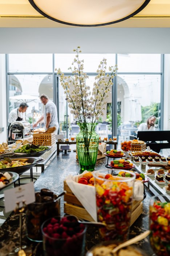
M 43 144 L 44 142 L 44 144 Z M 33 144 L 43 146 L 53 146 L 56 143 L 55 133 L 34 133 Z

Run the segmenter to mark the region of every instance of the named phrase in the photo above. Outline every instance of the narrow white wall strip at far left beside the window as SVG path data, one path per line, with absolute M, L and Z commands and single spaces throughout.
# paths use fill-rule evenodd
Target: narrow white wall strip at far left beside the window
M 7 141 L 7 100 L 6 100 L 6 69 L 5 54 L 0 54 L 0 127 L 4 131 L 0 133 L 0 143 Z

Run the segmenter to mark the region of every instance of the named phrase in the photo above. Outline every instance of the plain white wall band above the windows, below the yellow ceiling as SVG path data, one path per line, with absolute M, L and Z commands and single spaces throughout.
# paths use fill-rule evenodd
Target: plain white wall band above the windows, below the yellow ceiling
M 0 53 L 170 53 L 170 28 L 0 28 Z

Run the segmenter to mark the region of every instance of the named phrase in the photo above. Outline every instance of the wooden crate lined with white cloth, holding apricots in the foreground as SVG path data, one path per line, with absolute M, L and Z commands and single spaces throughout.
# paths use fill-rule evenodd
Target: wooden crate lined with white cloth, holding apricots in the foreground
M 92 216 L 82 206 L 81 202 L 74 196 L 72 190 L 66 184 L 66 181 L 64 181 L 64 190 L 66 190 L 66 194 L 64 195 L 64 213 L 76 215 L 78 218 L 84 220 L 94 221 Z M 141 215 L 142 209 L 142 201 L 133 201 L 130 225 Z

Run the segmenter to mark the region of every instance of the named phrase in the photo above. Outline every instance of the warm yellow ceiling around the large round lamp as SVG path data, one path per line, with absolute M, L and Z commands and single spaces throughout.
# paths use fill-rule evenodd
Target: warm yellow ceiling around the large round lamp
M 0 0 L 0 27 L 73 27 L 40 15 L 28 0 Z M 104 27 L 170 27 L 170 0 L 151 0 L 134 17 Z

